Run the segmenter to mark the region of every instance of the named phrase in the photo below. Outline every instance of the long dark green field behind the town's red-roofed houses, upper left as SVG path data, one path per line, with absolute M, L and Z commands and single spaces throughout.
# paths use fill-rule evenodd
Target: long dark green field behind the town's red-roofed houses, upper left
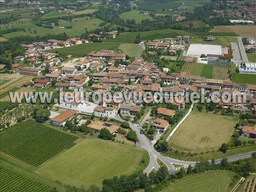
M 119 45 L 119 43 L 87 43 L 71 47 L 51 49 L 48 50 L 48 52 L 55 52 L 57 50 L 59 53 L 84 56 L 87 55 L 88 52 L 100 51 L 101 49 L 116 49 L 117 47 L 119 47 Z

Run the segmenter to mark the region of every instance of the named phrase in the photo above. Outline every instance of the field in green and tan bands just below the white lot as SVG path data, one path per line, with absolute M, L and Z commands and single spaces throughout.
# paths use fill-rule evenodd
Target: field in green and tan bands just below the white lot
M 228 78 L 228 67 L 218 67 L 214 65 L 193 63 L 189 75 L 203 76 L 209 79 Z

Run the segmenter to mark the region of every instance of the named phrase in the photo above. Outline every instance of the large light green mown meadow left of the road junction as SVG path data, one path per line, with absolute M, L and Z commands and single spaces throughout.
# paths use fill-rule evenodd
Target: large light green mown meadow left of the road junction
M 85 139 L 44 163 L 36 172 L 74 186 L 99 186 L 105 178 L 130 174 L 140 168 L 143 154 L 140 148 Z

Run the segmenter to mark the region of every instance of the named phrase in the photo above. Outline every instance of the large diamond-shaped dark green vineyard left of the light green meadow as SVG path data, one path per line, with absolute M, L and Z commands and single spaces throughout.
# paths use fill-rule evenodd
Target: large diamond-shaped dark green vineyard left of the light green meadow
M 29 119 L 0 134 L 0 151 L 36 167 L 72 145 L 77 138 Z

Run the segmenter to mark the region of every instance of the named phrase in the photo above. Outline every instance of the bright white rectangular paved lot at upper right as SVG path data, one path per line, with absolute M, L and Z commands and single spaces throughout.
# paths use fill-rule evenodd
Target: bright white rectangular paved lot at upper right
M 202 54 L 222 56 L 222 48 L 221 45 L 190 44 L 186 54 L 195 56 Z

